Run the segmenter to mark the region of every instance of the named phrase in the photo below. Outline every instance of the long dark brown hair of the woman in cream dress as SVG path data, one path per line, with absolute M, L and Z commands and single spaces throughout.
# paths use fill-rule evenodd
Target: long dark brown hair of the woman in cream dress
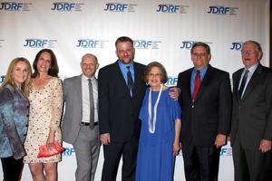
M 59 73 L 58 62 L 51 49 L 42 49 L 40 52 L 36 54 L 34 62 L 33 62 L 34 73 L 31 77 L 35 78 L 39 74 L 39 71 L 37 70 L 37 62 L 43 52 L 48 52 L 51 57 L 51 68 L 48 70 L 48 75 L 51 75 L 53 77 L 58 77 L 58 73 Z

